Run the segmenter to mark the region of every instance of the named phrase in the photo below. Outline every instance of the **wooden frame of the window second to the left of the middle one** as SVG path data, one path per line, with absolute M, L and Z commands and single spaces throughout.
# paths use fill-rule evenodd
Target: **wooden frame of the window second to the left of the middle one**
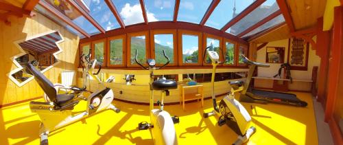
M 116 39 L 123 39 L 123 52 L 122 52 L 122 64 L 121 65 L 111 65 L 110 64 L 110 41 Z M 125 67 L 126 66 L 126 34 L 112 36 L 107 38 L 107 49 L 106 49 L 106 58 L 107 58 L 107 66 L 108 67 Z

